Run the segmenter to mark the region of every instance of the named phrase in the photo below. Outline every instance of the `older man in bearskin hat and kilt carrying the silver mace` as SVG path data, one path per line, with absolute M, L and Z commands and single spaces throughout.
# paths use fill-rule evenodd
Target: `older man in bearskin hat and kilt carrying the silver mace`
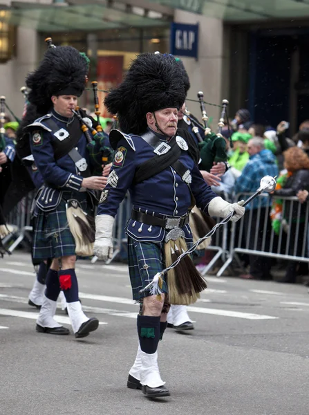
M 191 243 L 189 210 L 196 205 L 212 216 L 234 219 L 243 213 L 237 203 L 216 196 L 196 165 L 194 143 L 177 129 L 178 109 L 185 102 L 180 68 L 171 55 L 139 55 L 126 79 L 106 97 L 111 113 L 118 113 L 122 132 L 112 130 L 117 149 L 108 185 L 95 218 L 95 255 L 111 256 L 111 234 L 118 206 L 127 190 L 133 210 L 127 223 L 129 273 L 133 299 L 140 302 L 139 347 L 129 371 L 128 387 L 147 397 L 169 396 L 158 369 L 158 342 L 167 326 L 169 304 L 191 304 L 206 284 L 191 259 L 159 279 L 158 289 L 144 289 L 165 265 L 171 264 L 186 242 Z M 144 290 L 144 291 L 143 291 Z

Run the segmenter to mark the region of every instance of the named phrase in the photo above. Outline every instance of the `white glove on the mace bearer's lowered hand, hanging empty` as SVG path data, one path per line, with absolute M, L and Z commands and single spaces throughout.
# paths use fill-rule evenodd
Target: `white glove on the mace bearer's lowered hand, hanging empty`
M 95 244 L 93 255 L 106 261 L 113 256 L 113 223 L 115 218 L 109 214 L 95 216 Z

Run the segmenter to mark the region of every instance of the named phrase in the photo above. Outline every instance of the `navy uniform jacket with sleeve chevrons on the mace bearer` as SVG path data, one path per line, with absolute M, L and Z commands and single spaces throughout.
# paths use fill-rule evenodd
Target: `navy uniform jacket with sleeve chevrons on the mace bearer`
M 134 184 L 135 169 L 155 156 L 153 147 L 140 136 L 123 134 L 115 151 L 113 166 L 109 174 L 107 185 L 102 192 L 97 214 L 115 216 L 122 199 L 129 190 L 131 202 L 135 210 L 148 214 L 155 212 L 167 216 L 183 216 L 187 214 L 191 205 L 189 187 L 178 176 L 172 167 L 167 167 L 156 176 L 152 176 L 142 183 Z M 162 139 L 166 138 L 162 136 Z M 196 205 L 207 212 L 208 203 L 217 195 L 205 183 L 196 163 L 185 150 L 181 151 L 180 162 L 191 172 L 191 192 L 196 199 Z M 142 231 L 140 231 L 142 229 Z M 183 229 L 187 239 L 191 239 L 189 225 Z M 165 230 L 160 226 L 141 225 L 132 219 L 127 225 L 127 233 L 138 241 L 162 241 Z

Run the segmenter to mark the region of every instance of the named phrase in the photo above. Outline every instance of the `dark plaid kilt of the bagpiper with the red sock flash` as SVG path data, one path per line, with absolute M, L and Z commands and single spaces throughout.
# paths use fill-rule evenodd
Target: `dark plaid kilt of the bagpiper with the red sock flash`
M 37 209 L 33 218 L 33 258 L 47 259 L 75 255 L 75 241 L 66 219 L 68 199 L 76 199 L 82 209 L 88 212 L 86 192 L 64 192 L 59 205 L 51 212 Z

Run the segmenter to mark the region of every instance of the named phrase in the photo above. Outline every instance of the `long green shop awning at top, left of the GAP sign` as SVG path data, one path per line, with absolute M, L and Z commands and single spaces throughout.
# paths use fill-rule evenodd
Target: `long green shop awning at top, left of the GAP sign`
M 109 0 L 94 4 L 57 4 L 59 5 L 38 6 L 12 2 L 11 7 L 0 10 L 0 21 L 52 33 L 64 30 L 158 27 L 167 26 L 170 20 L 170 16 L 162 12 Z

